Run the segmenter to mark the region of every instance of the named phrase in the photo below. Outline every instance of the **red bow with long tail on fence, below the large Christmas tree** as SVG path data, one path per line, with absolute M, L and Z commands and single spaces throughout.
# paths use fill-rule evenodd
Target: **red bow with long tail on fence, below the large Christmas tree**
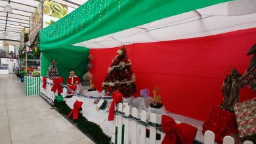
M 123 94 L 119 92 L 119 90 L 116 90 L 114 94 L 112 94 L 113 101 L 110 105 L 110 111 L 108 112 L 108 120 L 114 120 L 115 117 L 115 103 L 116 105 L 121 101 L 123 98 Z

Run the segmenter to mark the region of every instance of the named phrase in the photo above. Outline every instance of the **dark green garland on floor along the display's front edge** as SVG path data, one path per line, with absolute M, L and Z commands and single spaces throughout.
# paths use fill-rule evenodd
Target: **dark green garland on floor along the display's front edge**
M 54 101 L 54 107 L 58 109 L 58 112 L 68 116 L 70 111 L 70 107 L 66 104 L 66 101 Z M 77 124 L 77 127 L 82 130 L 82 132 L 90 134 L 93 139 L 95 140 L 95 143 L 98 144 L 105 144 L 110 143 L 110 137 L 108 135 L 104 134 L 102 132 L 100 126 L 98 124 L 95 124 L 93 122 L 89 122 L 81 113 L 79 113 L 79 118 L 77 120 L 73 120 L 75 124 Z

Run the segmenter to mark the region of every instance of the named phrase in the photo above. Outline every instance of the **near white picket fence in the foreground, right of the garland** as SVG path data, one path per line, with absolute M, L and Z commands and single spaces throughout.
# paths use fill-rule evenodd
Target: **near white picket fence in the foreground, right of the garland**
M 115 107 L 116 110 L 116 107 Z M 123 112 L 126 117 L 129 117 L 129 115 L 132 115 L 135 118 L 138 118 L 138 113 L 137 109 L 133 107 L 132 113 L 130 114 L 130 108 L 129 105 L 125 105 L 123 107 L 122 103 L 119 103 L 117 106 L 117 111 Z M 140 115 L 140 120 L 143 122 L 146 122 L 146 111 L 142 110 L 141 115 Z M 156 114 L 151 113 L 150 114 L 150 122 L 156 123 Z M 177 123 L 181 123 L 179 121 L 176 121 Z M 124 125 L 124 126 L 123 126 Z M 116 134 L 116 127 L 117 127 L 117 134 Z M 122 134 L 124 128 L 124 134 Z M 129 128 L 131 128 L 129 132 Z M 111 142 L 116 143 L 116 144 L 145 144 L 145 143 L 150 143 L 150 144 L 156 144 L 160 143 L 162 141 L 163 136 L 165 135 L 163 132 L 160 130 L 157 130 L 153 126 L 149 126 L 148 128 L 150 130 L 150 137 L 148 141 L 146 141 L 146 126 L 143 126 L 142 124 L 139 124 L 135 120 L 129 120 L 129 118 L 125 118 L 122 115 L 116 115 L 115 116 L 115 125 L 113 124 L 112 128 L 112 137 L 111 137 Z M 156 141 L 156 133 L 161 134 L 161 140 Z M 116 135 L 117 135 L 117 140 L 116 140 Z M 123 138 L 122 138 L 123 137 Z M 130 139 L 129 139 L 130 138 Z M 215 141 L 215 134 L 209 130 L 207 130 L 204 134 L 204 139 L 203 143 L 204 144 L 214 144 Z M 225 136 L 223 139 L 223 144 L 234 144 L 234 138 L 230 136 Z M 253 144 L 251 141 L 244 141 L 244 144 Z

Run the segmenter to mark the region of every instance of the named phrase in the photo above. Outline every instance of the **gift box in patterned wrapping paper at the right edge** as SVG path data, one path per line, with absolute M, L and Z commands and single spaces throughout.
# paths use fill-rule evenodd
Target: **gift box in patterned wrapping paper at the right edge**
M 240 137 L 256 135 L 256 98 L 234 105 Z

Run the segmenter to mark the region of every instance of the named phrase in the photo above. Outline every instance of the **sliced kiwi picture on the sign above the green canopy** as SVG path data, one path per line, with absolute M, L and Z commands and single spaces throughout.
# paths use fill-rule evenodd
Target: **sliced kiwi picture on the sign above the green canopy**
M 45 1 L 43 3 L 43 14 L 54 18 L 62 18 L 68 14 L 68 7 L 53 1 Z

